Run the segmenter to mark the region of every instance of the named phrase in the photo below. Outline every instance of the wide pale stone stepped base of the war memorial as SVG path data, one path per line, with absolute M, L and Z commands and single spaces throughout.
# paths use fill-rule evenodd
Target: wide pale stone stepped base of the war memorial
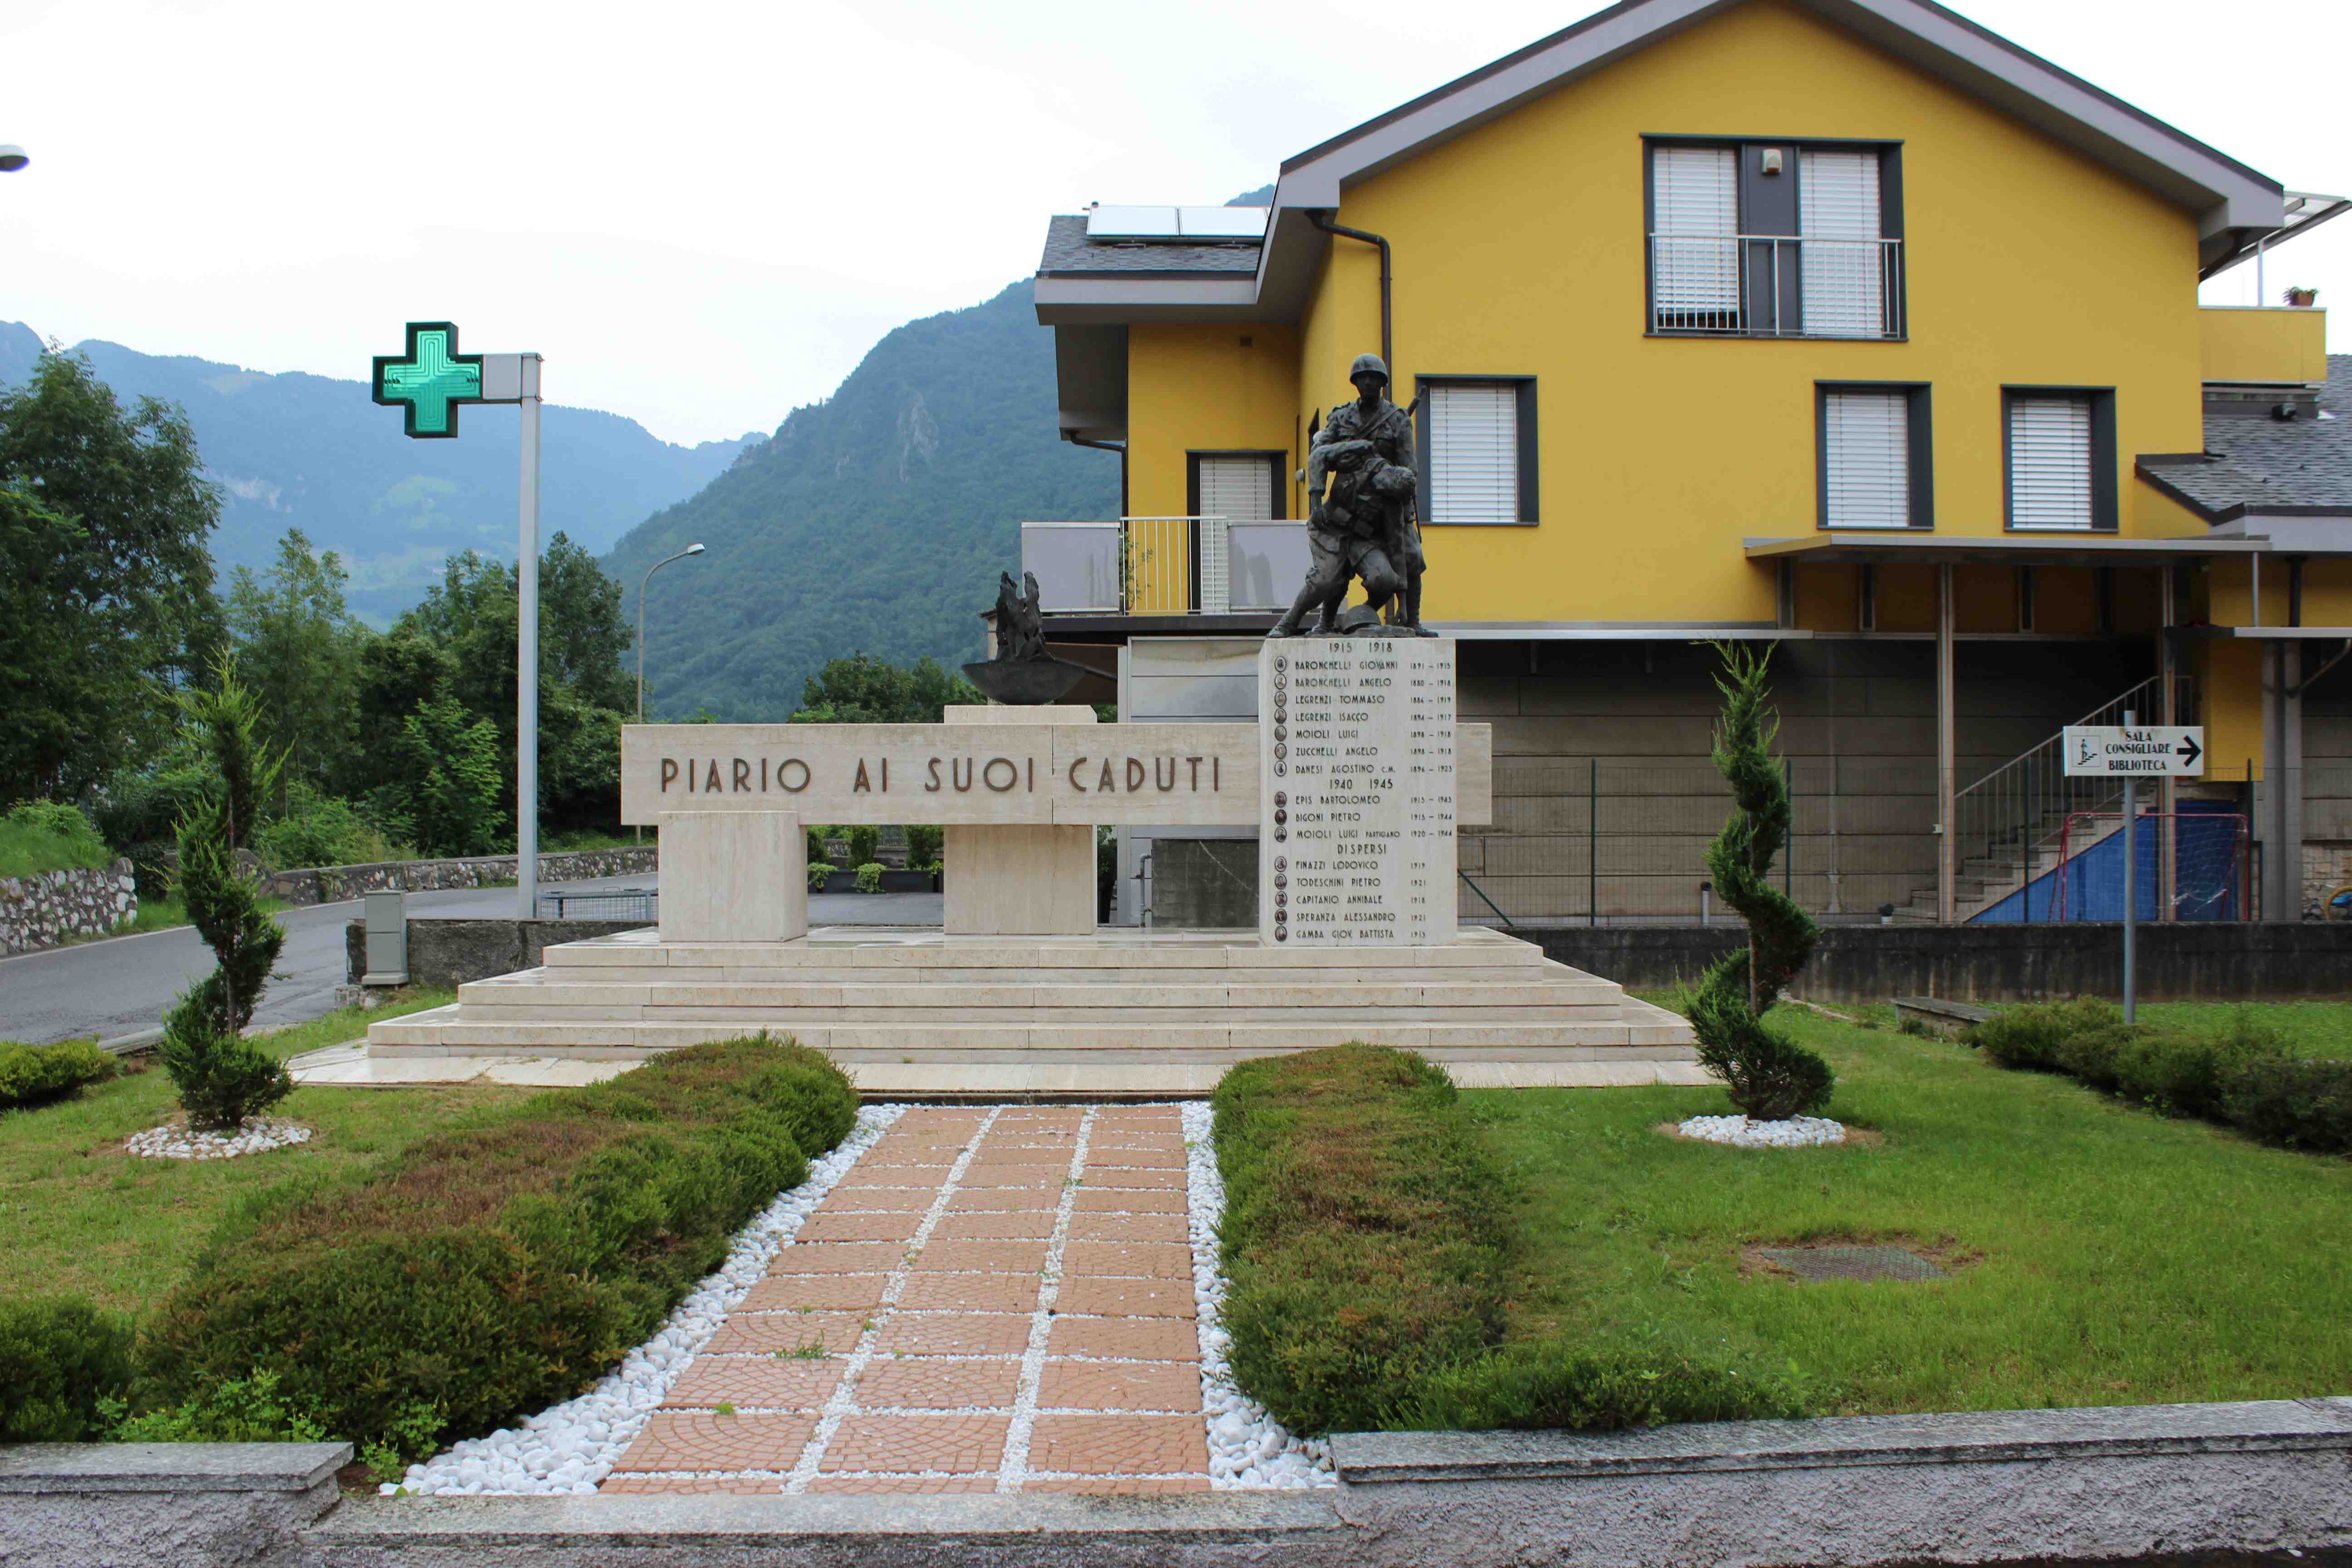
M 1606 1081 L 1661 1081 L 1644 1079 L 1649 1063 L 1696 1060 L 1679 1016 L 1486 929 L 1362 950 L 1272 947 L 1251 931 L 830 926 L 786 943 L 628 931 L 548 947 L 543 969 L 463 985 L 454 1006 L 372 1025 L 367 1041 L 374 1058 L 635 1060 L 755 1030 L 826 1051 L 868 1093 L 908 1070 L 929 1093 L 1056 1093 L 1063 1079 L 1068 1093 L 1117 1091 L 1122 1077 L 1200 1093 L 1235 1060 L 1350 1039 L 1421 1051 L 1482 1084 L 1595 1077 L 1559 1077 L 1578 1063 L 1616 1065 L 1597 1074 Z

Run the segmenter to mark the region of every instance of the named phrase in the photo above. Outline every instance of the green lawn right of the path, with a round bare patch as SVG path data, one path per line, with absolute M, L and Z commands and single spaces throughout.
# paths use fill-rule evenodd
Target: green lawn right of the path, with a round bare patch
M 2340 1030 L 2352 1009 L 2279 1004 Z M 2159 1009 L 2147 1009 L 2161 1016 Z M 1465 1093 L 1524 1182 L 1510 1338 L 1656 1331 L 1788 1368 L 1823 1413 L 2352 1394 L 2352 1161 L 2004 1072 L 1964 1046 L 1776 1013 L 1865 1140 L 1729 1150 L 1656 1124 L 1719 1088 Z M 2185 1018 L 2187 1020 L 2187 1018 Z M 1743 1253 L 1889 1239 L 1936 1284 L 1792 1284 Z

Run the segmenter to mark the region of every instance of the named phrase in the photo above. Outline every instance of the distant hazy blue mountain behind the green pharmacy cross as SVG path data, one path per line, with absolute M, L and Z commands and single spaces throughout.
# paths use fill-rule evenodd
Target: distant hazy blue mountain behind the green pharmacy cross
M 24 386 L 40 346 L 31 327 L 0 322 L 0 386 Z M 393 322 L 386 350 L 397 346 Z M 343 557 L 350 609 L 383 625 L 442 581 L 452 552 L 515 559 L 513 409 L 475 409 L 461 440 L 414 442 L 395 409 L 369 402 L 365 381 L 266 376 L 96 339 L 80 353 L 125 404 L 162 397 L 186 409 L 205 475 L 221 487 L 212 555 L 223 581 L 233 567 L 268 567 L 285 531 L 301 529 Z M 562 383 L 560 367 L 548 376 L 550 388 Z M 619 414 L 557 404 L 541 440 L 541 536 L 564 531 L 597 555 L 743 449 L 741 440 L 675 447 Z

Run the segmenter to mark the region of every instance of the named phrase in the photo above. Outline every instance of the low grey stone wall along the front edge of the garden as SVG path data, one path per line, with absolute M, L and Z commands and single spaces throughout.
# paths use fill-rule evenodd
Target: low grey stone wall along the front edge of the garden
M 2352 1399 L 1331 1439 L 1289 1493 L 343 1497 L 343 1443 L 0 1448 L 5 1568 L 2340 1563 Z

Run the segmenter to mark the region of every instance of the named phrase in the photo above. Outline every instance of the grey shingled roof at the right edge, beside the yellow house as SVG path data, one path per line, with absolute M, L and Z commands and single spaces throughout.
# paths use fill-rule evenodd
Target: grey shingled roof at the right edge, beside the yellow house
M 2206 522 L 2352 510 L 2352 355 L 2328 355 L 2317 418 L 2206 418 L 2204 440 L 2204 451 L 2143 456 L 2140 477 Z

